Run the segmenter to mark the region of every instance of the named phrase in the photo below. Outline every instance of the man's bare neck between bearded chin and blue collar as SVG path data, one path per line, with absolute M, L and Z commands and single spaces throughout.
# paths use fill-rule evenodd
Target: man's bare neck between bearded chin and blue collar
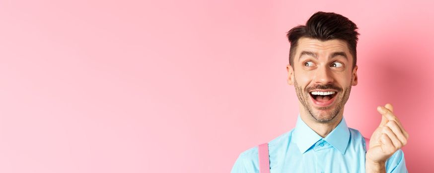
M 313 118 L 312 115 L 310 115 L 310 113 L 306 111 L 301 105 L 300 118 L 301 120 L 303 120 L 304 123 L 306 123 L 307 126 L 310 127 L 310 129 L 314 130 L 318 135 L 324 138 L 341 122 L 343 117 L 343 111 L 344 108 L 342 108 L 342 110 L 339 111 L 338 115 L 336 115 L 336 117 L 329 122 L 319 122 L 315 118 Z

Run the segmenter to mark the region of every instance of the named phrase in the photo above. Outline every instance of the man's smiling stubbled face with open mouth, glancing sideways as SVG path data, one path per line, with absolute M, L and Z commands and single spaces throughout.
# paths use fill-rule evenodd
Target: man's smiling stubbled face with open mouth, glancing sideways
M 345 41 L 298 40 L 293 68 L 287 66 L 288 83 L 317 122 L 328 123 L 343 110 L 351 86 L 357 85 L 353 60 Z

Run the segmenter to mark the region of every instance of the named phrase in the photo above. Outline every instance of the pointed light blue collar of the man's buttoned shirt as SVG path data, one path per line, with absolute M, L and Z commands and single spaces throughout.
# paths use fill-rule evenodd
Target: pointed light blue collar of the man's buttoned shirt
M 348 129 L 345 119 L 342 117 L 338 126 L 325 138 L 322 138 L 314 130 L 310 129 L 310 127 L 301 120 L 300 114 L 298 114 L 294 129 L 294 140 L 300 152 L 305 153 L 312 145 L 321 139 L 330 143 L 330 145 L 339 150 L 342 154 L 345 154 L 350 140 L 350 130 Z

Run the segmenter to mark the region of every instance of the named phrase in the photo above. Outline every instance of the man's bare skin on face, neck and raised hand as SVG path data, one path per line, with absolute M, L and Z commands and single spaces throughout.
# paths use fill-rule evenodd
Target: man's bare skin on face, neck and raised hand
M 321 137 L 326 137 L 342 120 L 351 87 L 358 84 L 358 66 L 353 68 L 354 59 L 345 41 L 300 38 L 297 43 L 293 67 L 287 65 L 288 84 L 295 87 L 300 118 Z M 336 55 L 336 52 L 342 53 Z M 336 91 L 335 100 L 329 106 L 318 106 L 309 92 L 324 89 Z M 408 139 L 391 104 L 378 106 L 377 111 L 382 120 L 370 138 L 366 173 L 385 173 L 386 160 L 406 145 Z

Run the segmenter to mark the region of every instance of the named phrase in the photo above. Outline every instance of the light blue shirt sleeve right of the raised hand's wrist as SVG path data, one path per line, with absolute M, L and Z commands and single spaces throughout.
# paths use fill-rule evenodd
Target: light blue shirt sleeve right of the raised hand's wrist
M 404 152 L 397 150 L 386 162 L 386 173 L 408 173 L 405 166 Z

